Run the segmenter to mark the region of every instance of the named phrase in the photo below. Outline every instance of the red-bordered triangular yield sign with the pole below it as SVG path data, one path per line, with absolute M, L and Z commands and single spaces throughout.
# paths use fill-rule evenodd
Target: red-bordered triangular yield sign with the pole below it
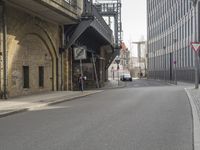
M 199 88 L 199 48 L 200 42 L 191 42 L 192 49 L 195 52 L 195 89 Z

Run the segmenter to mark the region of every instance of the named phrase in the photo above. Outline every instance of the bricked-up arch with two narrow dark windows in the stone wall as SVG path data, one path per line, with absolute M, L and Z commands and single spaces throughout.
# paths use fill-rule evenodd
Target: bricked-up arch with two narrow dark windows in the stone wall
M 37 34 L 27 34 L 9 53 L 9 95 L 51 91 L 54 87 L 54 58 Z

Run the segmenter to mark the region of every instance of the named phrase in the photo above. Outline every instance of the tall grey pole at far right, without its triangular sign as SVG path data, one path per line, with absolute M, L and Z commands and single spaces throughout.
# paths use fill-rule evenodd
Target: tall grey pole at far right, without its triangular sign
M 194 10 L 194 42 L 197 42 L 197 19 L 196 19 L 196 6 L 197 6 L 197 0 L 191 0 L 193 4 L 193 10 Z M 199 88 L 199 58 L 198 58 L 199 52 L 197 51 L 195 53 L 195 89 Z

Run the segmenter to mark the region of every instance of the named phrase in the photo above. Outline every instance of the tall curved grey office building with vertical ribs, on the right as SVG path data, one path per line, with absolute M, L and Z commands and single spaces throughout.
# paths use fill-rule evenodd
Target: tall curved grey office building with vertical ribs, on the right
M 199 10 L 198 4 L 197 14 Z M 199 20 L 199 15 L 196 17 Z M 149 78 L 194 81 L 195 53 L 190 44 L 194 41 L 194 9 L 191 0 L 147 0 L 147 22 Z

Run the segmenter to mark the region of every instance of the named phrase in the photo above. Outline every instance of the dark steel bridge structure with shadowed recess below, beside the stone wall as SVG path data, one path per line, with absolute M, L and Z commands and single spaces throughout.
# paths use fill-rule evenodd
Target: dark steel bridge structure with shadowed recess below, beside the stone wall
M 116 14 L 115 14 L 116 16 Z M 78 23 L 67 24 L 64 27 L 65 48 L 73 56 L 75 47 L 84 46 L 87 59 L 83 60 L 83 74 L 87 74 L 86 87 L 101 87 L 107 79 L 107 69 L 120 47 L 119 38 L 104 20 L 99 7 L 92 0 L 83 0 L 83 12 Z M 114 31 L 116 33 L 116 31 Z M 71 50 L 70 50 L 71 49 Z M 73 58 L 72 58 L 73 59 Z M 72 60 L 73 87 L 76 87 L 76 76 L 80 74 L 79 61 Z M 92 67 L 92 66 L 93 67 Z M 95 82 L 94 82 L 95 79 Z M 76 88 L 74 88 L 76 89 Z

